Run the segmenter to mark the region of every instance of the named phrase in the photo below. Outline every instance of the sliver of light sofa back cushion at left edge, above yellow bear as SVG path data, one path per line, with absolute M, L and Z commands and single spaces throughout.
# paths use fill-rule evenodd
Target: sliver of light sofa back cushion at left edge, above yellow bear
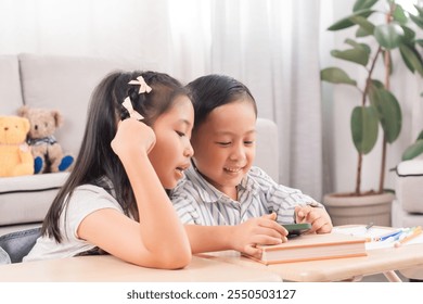
M 17 56 L 0 55 L 0 115 L 15 115 L 22 104 Z

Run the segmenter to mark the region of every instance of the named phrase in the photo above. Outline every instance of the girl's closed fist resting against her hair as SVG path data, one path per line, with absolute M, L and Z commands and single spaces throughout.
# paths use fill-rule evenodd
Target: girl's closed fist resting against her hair
M 120 157 L 125 152 L 136 149 L 142 149 L 149 153 L 155 142 L 156 136 L 151 127 L 134 118 L 127 118 L 117 126 L 117 132 L 111 145 Z

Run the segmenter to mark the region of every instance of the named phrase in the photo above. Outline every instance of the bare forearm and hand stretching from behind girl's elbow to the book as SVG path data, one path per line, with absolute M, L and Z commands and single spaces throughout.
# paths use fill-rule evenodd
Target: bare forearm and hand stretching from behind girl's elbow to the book
M 286 242 L 287 231 L 274 221 L 275 214 L 251 218 L 235 226 L 185 225 L 192 253 L 236 250 L 260 257 L 257 244 Z

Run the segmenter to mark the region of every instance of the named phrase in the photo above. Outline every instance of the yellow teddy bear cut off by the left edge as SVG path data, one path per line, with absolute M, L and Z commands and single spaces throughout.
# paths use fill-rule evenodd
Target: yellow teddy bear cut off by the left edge
M 29 121 L 17 116 L 0 116 L 0 176 L 34 174 L 34 159 L 25 139 Z

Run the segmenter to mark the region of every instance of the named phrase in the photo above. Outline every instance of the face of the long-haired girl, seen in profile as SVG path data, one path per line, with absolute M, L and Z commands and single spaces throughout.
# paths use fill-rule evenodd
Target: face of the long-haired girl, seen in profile
M 185 96 L 177 97 L 171 109 L 153 124 L 156 144 L 149 159 L 165 189 L 172 189 L 190 166 L 194 151 L 191 131 L 194 125 L 194 109 Z

